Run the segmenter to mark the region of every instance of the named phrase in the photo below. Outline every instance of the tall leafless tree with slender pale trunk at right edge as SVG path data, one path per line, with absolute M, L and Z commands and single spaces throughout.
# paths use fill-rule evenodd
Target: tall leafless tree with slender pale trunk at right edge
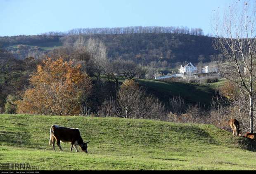
M 241 4 L 242 3 L 242 4 Z M 238 1 L 228 7 L 223 19 L 214 16 L 217 36 L 214 47 L 224 55 L 220 75 L 236 83 L 249 98 L 250 132 L 254 132 L 254 95 L 256 80 L 256 1 Z

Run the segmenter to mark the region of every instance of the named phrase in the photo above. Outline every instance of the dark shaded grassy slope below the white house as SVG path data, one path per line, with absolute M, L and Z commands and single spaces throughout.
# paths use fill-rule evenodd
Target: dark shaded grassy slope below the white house
M 164 103 L 172 96 L 181 96 L 188 103 L 200 103 L 208 106 L 212 101 L 214 90 L 208 85 L 181 82 L 163 82 L 158 80 L 137 80 L 150 94 L 154 94 Z

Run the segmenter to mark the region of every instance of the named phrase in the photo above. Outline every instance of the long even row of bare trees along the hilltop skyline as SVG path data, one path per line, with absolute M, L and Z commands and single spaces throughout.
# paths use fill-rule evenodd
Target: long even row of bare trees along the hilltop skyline
M 168 34 L 188 34 L 188 35 L 204 35 L 201 28 L 188 27 L 160 27 L 160 26 L 130 26 L 130 27 L 116 27 L 116 28 L 75 28 L 68 32 L 48 32 L 42 35 L 115 35 L 115 34 L 142 34 L 142 33 L 168 33 Z

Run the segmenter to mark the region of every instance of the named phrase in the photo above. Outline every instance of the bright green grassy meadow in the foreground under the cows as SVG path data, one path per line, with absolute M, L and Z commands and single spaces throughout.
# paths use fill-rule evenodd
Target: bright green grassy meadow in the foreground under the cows
M 51 125 L 76 127 L 88 154 L 49 146 Z M 0 115 L 0 162 L 45 169 L 256 169 L 255 152 L 212 125 L 71 116 Z M 241 139 L 241 138 L 240 138 Z

